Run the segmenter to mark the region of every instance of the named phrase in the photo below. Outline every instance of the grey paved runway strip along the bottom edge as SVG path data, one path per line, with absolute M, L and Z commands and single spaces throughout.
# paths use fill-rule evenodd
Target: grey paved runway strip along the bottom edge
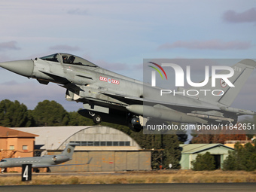
M 0 186 L 0 191 L 182 191 L 182 192 L 240 192 L 255 191 L 256 183 L 211 183 L 211 184 L 78 184 L 78 185 L 26 185 Z

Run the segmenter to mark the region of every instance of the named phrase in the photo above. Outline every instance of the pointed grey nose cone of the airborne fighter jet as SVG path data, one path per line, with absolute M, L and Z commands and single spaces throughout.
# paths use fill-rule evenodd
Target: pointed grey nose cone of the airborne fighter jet
M 34 70 L 34 62 L 32 60 L 0 62 L 0 67 L 25 77 L 31 77 Z

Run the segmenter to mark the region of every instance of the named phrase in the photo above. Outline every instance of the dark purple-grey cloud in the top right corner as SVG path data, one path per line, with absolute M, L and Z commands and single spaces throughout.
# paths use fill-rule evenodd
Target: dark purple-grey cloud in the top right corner
M 248 9 L 242 13 L 236 11 L 226 11 L 222 19 L 228 23 L 256 23 L 256 8 Z

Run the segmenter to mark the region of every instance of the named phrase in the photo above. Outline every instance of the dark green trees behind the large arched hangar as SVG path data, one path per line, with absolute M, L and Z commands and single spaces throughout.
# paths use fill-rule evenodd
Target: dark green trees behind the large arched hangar
M 93 120 L 83 117 L 77 111 L 68 112 L 55 101 L 44 100 L 38 102 L 33 110 L 28 110 L 26 105 L 8 99 L 0 102 L 0 126 L 6 127 L 32 127 L 32 126 L 93 126 Z M 127 126 L 114 123 L 104 123 L 126 133 L 144 149 L 152 150 L 152 166 L 173 169 L 180 168 L 179 160 L 181 151 L 179 144 L 187 140 L 186 134 L 178 135 L 145 135 L 143 132 L 133 132 Z

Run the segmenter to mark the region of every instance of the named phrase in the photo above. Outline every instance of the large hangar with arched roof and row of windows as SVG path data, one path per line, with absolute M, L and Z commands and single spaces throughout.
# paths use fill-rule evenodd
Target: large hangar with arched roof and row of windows
M 108 126 L 41 126 L 14 128 L 38 135 L 35 148 L 59 154 L 69 142 L 76 142 L 73 160 L 52 172 L 111 172 L 151 170 L 151 151 L 144 151 L 130 136 Z

